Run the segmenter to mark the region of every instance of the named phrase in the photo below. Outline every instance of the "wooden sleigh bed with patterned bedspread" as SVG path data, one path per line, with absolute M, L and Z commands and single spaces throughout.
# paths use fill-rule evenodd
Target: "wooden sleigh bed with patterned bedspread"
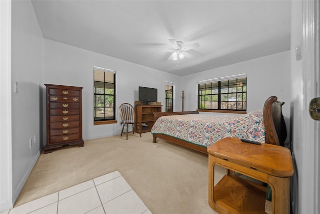
M 197 111 L 154 112 L 153 143 L 160 138 L 205 154 L 209 145 L 225 137 L 284 146 L 283 104 L 276 96 L 271 96 L 264 102 L 263 110 L 240 116 L 199 114 Z

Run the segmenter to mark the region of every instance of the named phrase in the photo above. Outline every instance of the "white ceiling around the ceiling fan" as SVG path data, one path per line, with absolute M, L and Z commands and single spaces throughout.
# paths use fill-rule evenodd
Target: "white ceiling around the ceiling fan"
M 290 0 L 31 1 L 44 38 L 180 76 L 290 49 Z

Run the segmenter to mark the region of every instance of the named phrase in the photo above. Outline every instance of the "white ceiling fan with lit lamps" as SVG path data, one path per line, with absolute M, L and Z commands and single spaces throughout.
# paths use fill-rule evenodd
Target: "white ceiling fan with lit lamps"
M 183 46 L 183 42 L 182 41 L 176 41 L 173 38 L 169 38 L 169 41 L 173 47 L 173 49 L 171 50 L 160 50 L 160 51 L 166 51 L 166 52 L 172 52 L 172 54 L 170 55 L 169 59 L 172 59 L 174 61 L 176 61 L 176 66 L 178 66 L 179 60 L 183 59 L 184 57 L 186 58 L 192 58 L 193 56 L 187 52 L 185 52 L 186 50 L 190 50 L 193 48 L 197 48 L 199 47 L 199 43 L 195 42 L 193 44 L 189 44 L 186 46 Z

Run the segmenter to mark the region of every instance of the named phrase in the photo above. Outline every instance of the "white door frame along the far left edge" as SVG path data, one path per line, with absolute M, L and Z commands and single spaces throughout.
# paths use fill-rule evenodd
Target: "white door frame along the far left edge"
M 12 204 L 11 0 L 0 0 L 0 213 Z

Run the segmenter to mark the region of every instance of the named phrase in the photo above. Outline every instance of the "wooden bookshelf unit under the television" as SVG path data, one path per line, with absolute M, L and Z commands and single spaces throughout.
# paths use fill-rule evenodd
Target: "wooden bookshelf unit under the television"
M 153 112 L 161 112 L 161 106 L 141 104 L 135 105 L 135 117 L 136 121 L 138 122 L 135 132 L 141 134 L 151 131 L 151 128 L 154 124 Z M 147 126 L 145 130 L 142 130 L 142 123 L 145 123 L 145 125 Z

